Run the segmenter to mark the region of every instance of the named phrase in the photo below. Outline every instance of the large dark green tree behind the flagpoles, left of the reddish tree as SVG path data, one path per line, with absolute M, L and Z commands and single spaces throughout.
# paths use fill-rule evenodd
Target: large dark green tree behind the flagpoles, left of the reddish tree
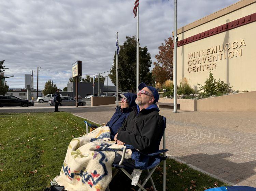
M 122 91 L 131 90 L 136 92 L 136 36 L 126 37 L 123 45 L 120 45 L 118 55 L 118 84 Z M 139 82 L 153 83 L 151 67 L 151 56 L 147 47 L 139 47 Z M 110 79 L 116 85 L 116 52 L 114 64 L 111 68 Z

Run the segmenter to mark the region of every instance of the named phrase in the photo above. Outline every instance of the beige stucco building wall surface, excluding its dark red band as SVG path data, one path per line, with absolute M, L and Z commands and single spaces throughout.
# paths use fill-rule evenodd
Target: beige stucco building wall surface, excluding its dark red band
M 216 18 L 210 22 L 202 24 L 196 28 L 190 29 L 184 33 L 179 34 L 179 40 L 184 38 L 196 35 L 203 31 L 207 31 L 209 29 L 215 28 L 219 25 L 225 24 L 227 22 L 239 19 L 241 17 L 250 15 L 255 13 L 256 3 L 250 4 L 246 7 L 243 7 L 237 11 L 231 12 L 222 17 Z M 204 84 L 205 80 L 208 77 L 209 72 L 213 73 L 215 79 L 221 79 L 225 83 L 233 86 L 234 90 L 239 89 L 242 90 L 256 90 L 255 83 L 255 72 L 256 72 L 256 53 L 255 53 L 255 45 L 256 45 L 256 37 L 254 32 L 256 31 L 256 22 L 252 22 L 246 25 L 243 25 L 238 28 L 234 28 L 232 30 L 219 33 L 195 42 L 191 42 L 187 45 L 183 45 L 177 48 L 177 81 L 182 80 L 183 77 L 186 77 L 190 80 L 190 83 L 195 88 L 198 88 L 197 84 Z M 243 40 L 244 44 L 240 45 L 241 40 Z M 236 41 L 238 43 L 236 43 Z M 234 47 L 238 45 L 236 48 L 232 48 L 231 45 L 227 45 L 227 48 L 230 47 L 229 50 L 218 51 L 219 45 L 222 46 L 227 43 L 232 44 L 234 42 Z M 213 54 L 206 55 L 205 63 L 195 64 L 188 66 L 188 60 L 192 60 L 194 58 L 189 59 L 189 53 L 193 53 L 200 50 L 205 50 L 216 47 L 217 52 Z M 236 51 L 239 51 L 236 56 Z M 211 52 L 211 51 L 210 51 Z M 230 53 L 229 53 L 230 52 Z M 234 56 L 233 53 L 234 53 Z M 222 59 L 220 59 L 220 55 L 222 55 Z M 224 54 L 230 54 L 230 58 L 224 59 Z M 217 60 L 213 60 L 213 55 L 217 56 Z M 203 56 L 203 57 L 205 57 Z M 211 59 L 208 60 L 208 56 L 211 56 Z M 198 57 L 200 58 L 200 57 Z M 195 59 L 197 59 L 195 57 Z M 201 58 L 202 59 L 202 58 Z M 210 61 L 210 62 L 209 62 Z M 190 63 L 189 63 L 190 64 Z M 205 64 L 205 66 L 203 66 Z M 209 65 L 210 64 L 210 65 Z M 201 66 L 200 66 L 201 65 Z M 207 68 L 207 65 L 209 66 Z M 191 68 L 191 72 L 188 72 L 189 67 L 194 67 L 194 71 Z M 196 71 L 196 69 L 200 67 L 201 71 Z M 204 71 L 203 71 L 204 67 Z M 210 70 L 207 70 L 210 69 Z M 189 69 L 190 70 L 190 69 Z

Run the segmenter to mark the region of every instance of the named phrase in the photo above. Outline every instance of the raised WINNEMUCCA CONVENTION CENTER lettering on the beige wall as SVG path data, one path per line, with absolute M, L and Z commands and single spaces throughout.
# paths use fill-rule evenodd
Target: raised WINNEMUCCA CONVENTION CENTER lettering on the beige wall
M 238 57 L 242 56 L 242 48 L 241 46 L 245 46 L 244 39 L 238 43 L 238 41 L 233 41 L 231 44 L 226 43 L 225 45 L 219 45 L 216 47 L 199 50 L 196 52 L 192 52 L 188 54 L 188 72 L 198 72 L 198 71 L 204 71 L 204 70 L 216 70 L 216 62 L 218 60 L 232 58 L 232 57 Z M 236 49 L 236 48 L 240 49 Z M 235 50 L 230 50 L 230 48 Z M 225 52 L 223 50 L 226 50 Z M 199 66 L 195 66 L 198 65 Z M 191 66 L 192 65 L 192 66 Z M 194 65 L 194 66 L 193 66 Z

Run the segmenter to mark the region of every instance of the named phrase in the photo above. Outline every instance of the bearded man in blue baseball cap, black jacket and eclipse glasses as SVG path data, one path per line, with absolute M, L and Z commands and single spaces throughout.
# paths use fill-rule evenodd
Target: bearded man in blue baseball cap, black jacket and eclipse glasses
M 133 145 L 148 154 L 159 150 L 164 122 L 156 105 L 159 99 L 156 88 L 140 83 L 139 90 L 135 100 L 137 106 L 132 107 L 133 111 L 117 131 L 114 140 L 117 144 Z

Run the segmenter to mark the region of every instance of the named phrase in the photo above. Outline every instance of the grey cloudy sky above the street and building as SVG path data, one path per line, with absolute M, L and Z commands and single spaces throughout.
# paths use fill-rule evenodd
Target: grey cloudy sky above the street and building
M 238 0 L 178 0 L 178 28 Z M 24 74 L 39 71 L 39 89 L 51 79 L 67 86 L 71 65 L 82 60 L 83 75 L 110 70 L 126 36 L 136 35 L 134 0 L 1 0 L 0 60 L 9 87 L 24 88 Z M 140 44 L 152 57 L 174 27 L 173 0 L 140 0 Z M 49 71 L 50 70 L 50 71 Z M 54 71 L 54 72 L 53 72 Z M 36 88 L 37 73 L 34 74 Z M 109 80 L 109 85 L 112 85 Z

